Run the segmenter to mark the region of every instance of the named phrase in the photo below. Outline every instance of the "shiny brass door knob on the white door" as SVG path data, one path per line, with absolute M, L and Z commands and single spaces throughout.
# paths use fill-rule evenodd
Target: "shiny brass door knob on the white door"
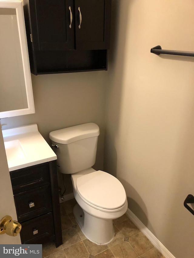
M 0 220 L 0 234 L 7 234 L 9 236 L 15 237 L 21 231 L 22 225 L 16 221 L 12 220 L 12 217 L 6 215 Z

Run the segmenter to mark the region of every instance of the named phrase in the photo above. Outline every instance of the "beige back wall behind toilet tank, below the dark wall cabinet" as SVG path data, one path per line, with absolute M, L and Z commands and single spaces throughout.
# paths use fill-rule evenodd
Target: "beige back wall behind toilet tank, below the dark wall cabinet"
M 106 71 L 32 74 L 35 114 L 1 119 L 2 129 L 36 123 L 50 144 L 49 132 L 94 122 L 100 127 L 94 168 L 103 169 L 106 76 Z M 65 180 L 68 194 L 72 192 L 69 175 Z M 62 174 L 59 181 L 63 190 Z

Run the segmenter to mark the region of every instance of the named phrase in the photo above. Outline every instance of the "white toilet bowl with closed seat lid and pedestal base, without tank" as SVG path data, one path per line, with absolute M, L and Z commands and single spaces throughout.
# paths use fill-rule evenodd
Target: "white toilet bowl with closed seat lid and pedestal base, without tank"
M 125 190 L 118 179 L 104 171 L 90 168 L 87 174 L 85 172 L 71 176 L 78 203 L 73 214 L 89 240 L 107 244 L 114 237 L 112 220 L 121 217 L 127 210 Z

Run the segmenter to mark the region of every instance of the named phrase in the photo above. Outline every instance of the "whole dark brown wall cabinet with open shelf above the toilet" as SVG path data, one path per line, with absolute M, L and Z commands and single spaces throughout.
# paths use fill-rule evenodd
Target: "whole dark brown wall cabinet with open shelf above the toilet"
M 24 0 L 31 72 L 107 70 L 111 0 Z

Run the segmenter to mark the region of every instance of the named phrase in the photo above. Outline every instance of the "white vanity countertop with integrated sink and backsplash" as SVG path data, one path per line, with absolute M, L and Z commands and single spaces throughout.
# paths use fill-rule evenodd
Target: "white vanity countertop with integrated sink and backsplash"
M 57 159 L 36 124 L 2 130 L 9 171 Z

